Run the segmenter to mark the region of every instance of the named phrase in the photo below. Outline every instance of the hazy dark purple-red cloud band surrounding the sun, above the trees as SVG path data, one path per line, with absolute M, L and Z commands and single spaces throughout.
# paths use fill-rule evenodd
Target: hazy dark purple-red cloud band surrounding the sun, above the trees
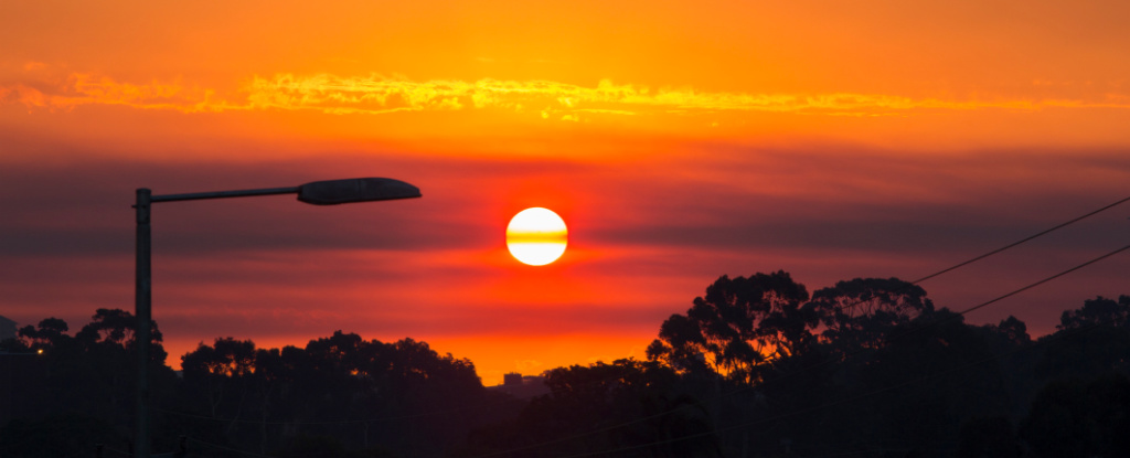
M 97 308 L 132 309 L 139 185 L 180 193 L 380 175 L 425 196 L 156 205 L 155 313 L 177 352 L 220 335 L 334 329 L 385 339 L 619 329 L 645 340 L 723 274 L 785 269 L 810 291 L 854 277 L 912 279 L 1130 195 L 1130 155 L 1118 152 L 687 150 L 699 153 L 607 163 L 342 153 L 332 165 L 169 164 L 98 152 L 7 161 L 0 314 L 80 326 Z M 539 283 L 506 259 L 506 218 L 540 201 L 566 217 L 571 251 L 557 270 L 537 273 L 574 283 Z M 1128 243 L 1127 216 L 1130 204 L 924 286 L 939 305 L 971 306 Z M 1017 314 L 1050 330 L 1083 299 L 1130 293 L 1119 290 L 1127 271 L 1127 257 L 1112 258 L 971 320 Z

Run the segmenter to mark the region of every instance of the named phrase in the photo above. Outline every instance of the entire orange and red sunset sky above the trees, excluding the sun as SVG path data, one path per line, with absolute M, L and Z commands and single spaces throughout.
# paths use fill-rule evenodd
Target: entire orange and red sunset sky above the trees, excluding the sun
M 236 5 L 232 5 L 236 3 Z M 154 319 L 505 372 L 635 356 L 719 276 L 914 279 L 1130 197 L 1130 2 L 10 1 L 0 316 L 133 310 L 134 189 L 388 176 L 421 199 L 154 206 Z M 568 225 L 556 262 L 510 218 Z M 1130 243 L 1130 204 L 924 282 L 965 309 Z M 1130 294 L 1123 252 L 967 317 Z

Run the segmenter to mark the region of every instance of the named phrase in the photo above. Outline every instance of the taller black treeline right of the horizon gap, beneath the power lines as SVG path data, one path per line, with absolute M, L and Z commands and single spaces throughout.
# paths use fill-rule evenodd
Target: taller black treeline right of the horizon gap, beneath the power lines
M 550 396 L 464 456 L 1130 456 L 1125 295 L 1033 340 L 898 279 L 721 277 L 647 356 L 550 371 Z

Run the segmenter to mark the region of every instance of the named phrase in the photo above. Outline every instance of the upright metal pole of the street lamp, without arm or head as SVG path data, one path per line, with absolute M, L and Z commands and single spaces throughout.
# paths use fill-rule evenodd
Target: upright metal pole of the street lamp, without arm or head
M 153 326 L 153 269 L 150 259 L 153 237 L 149 231 L 149 202 L 153 191 L 137 190 L 138 201 L 133 208 L 138 214 L 137 236 L 137 291 L 134 312 L 138 326 L 133 332 L 133 344 L 138 347 L 137 416 L 134 418 L 133 457 L 149 458 L 149 329 Z

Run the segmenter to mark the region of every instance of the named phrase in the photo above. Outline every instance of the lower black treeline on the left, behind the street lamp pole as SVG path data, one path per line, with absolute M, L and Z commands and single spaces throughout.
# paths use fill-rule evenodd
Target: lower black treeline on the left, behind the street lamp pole
M 0 457 L 128 456 L 134 411 L 133 317 L 98 310 L 73 337 L 59 319 L 0 343 L 19 369 L 16 420 Z M 468 360 L 426 343 L 334 332 L 304 348 L 257 348 L 218 338 L 164 364 L 154 329 L 155 452 L 186 457 L 445 456 L 468 432 L 511 417 L 521 403 L 487 391 Z M 42 351 L 42 353 L 41 353 Z M 183 439 L 182 439 L 183 438 Z M 112 455 L 118 453 L 118 455 Z

